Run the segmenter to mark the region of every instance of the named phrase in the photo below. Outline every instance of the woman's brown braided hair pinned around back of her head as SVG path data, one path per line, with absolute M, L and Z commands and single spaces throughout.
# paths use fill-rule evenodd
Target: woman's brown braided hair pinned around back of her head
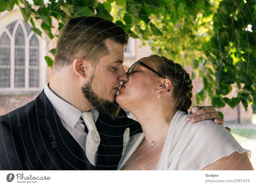
M 151 55 L 149 57 L 158 59 L 159 64 L 156 65 L 157 72 L 166 75 L 171 80 L 172 87 L 170 92 L 173 100 L 175 100 L 176 108 L 188 113 L 188 109 L 192 105 L 193 85 L 187 71 L 180 64 L 174 63 L 163 56 Z

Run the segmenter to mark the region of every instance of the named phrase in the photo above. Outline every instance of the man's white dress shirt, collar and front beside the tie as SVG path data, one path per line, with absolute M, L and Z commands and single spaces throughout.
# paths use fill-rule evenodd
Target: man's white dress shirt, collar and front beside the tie
M 80 119 L 82 112 L 54 94 L 49 88 L 49 82 L 47 82 L 44 87 L 44 94 L 52 103 L 63 126 L 75 138 L 76 142 L 82 147 L 85 153 L 87 133 L 84 132 L 83 120 Z M 97 110 L 91 110 L 90 112 L 92 112 L 93 120 L 96 123 L 99 112 Z

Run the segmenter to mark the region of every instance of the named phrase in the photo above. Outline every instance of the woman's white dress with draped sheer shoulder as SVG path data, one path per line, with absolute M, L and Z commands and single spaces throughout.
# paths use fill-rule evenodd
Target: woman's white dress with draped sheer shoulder
M 216 125 L 212 120 L 191 123 L 188 121 L 189 115 L 179 110 L 175 113 L 157 170 L 201 170 L 236 151 L 246 152 L 250 158 L 251 151 L 242 148 L 226 128 Z M 117 170 L 122 168 L 144 138 L 143 133 L 130 138 L 128 132 L 127 128 L 124 135 L 123 156 Z M 159 143 L 161 142 L 156 143 L 153 149 L 157 148 Z M 138 158 L 143 158 L 147 153 L 150 152 L 145 152 Z

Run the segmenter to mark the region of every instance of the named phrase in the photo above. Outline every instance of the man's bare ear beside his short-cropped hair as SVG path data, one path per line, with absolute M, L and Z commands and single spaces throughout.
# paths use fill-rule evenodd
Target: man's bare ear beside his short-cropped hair
M 73 61 L 73 70 L 78 76 L 85 78 L 91 73 L 91 63 L 83 58 L 76 58 Z

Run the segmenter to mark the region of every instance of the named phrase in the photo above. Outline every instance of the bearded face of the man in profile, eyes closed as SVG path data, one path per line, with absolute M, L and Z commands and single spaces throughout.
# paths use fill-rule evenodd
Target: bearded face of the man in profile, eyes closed
M 91 81 L 84 84 L 82 91 L 100 114 L 115 119 L 120 111 L 116 93 L 121 81 L 126 81 L 128 77 L 123 68 L 124 46 L 112 41 L 106 41 L 106 44 L 108 55 L 92 64 Z

